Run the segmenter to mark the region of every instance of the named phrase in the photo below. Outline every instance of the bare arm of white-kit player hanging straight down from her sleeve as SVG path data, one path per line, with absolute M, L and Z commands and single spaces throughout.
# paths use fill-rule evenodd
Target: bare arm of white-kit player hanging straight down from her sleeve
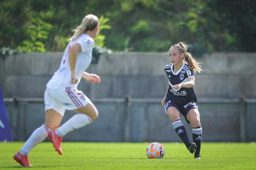
M 76 67 L 77 54 L 79 52 L 82 52 L 82 48 L 78 43 L 73 44 L 68 50 L 68 61 L 69 61 L 69 67 L 71 71 L 72 84 L 75 84 L 78 81 L 75 74 L 75 69 L 76 69 L 75 67 Z

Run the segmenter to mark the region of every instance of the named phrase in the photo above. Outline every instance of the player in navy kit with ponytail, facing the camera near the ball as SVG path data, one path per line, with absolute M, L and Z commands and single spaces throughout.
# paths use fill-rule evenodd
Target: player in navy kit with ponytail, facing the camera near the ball
M 171 46 L 169 56 L 172 63 L 164 67 L 169 83 L 162 105 L 173 122 L 174 130 L 187 149 L 191 154 L 195 152 L 194 158 L 201 159 L 202 127 L 193 90 L 195 74 L 202 71 L 201 65 L 187 52 L 187 45 L 182 42 Z M 192 126 L 194 142 L 189 142 L 186 129 L 180 120 L 181 115 Z

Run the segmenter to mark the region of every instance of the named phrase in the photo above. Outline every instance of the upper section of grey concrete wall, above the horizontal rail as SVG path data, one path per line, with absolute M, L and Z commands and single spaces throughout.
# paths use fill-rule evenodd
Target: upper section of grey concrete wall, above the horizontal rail
M 61 53 L 31 53 L 0 59 L 4 97 L 43 97 L 45 84 L 58 69 Z M 203 62 L 196 76 L 198 98 L 256 98 L 256 53 L 213 53 Z M 4 64 L 3 64 L 4 63 Z M 79 88 L 91 98 L 162 98 L 167 78 L 165 53 L 114 53 L 101 56 L 88 72 L 101 76 L 100 84 L 82 81 Z M 3 74 L 5 72 L 5 74 Z

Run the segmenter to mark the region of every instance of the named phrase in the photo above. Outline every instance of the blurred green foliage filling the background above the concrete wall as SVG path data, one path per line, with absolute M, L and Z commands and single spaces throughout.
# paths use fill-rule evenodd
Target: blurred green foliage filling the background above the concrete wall
M 179 41 L 202 51 L 256 50 L 256 3 L 249 0 L 2 0 L 0 47 L 62 51 L 89 13 L 101 16 L 95 44 L 114 51 L 163 52 Z

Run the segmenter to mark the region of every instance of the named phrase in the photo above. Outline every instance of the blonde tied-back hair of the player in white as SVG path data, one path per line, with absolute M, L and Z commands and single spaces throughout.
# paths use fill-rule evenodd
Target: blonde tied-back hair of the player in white
M 94 30 L 98 26 L 99 26 L 99 19 L 97 16 L 93 14 L 86 15 L 82 20 L 82 23 L 76 29 L 73 30 L 74 34 L 70 38 L 70 40 L 74 40 L 79 36 L 81 36 L 84 33 L 84 31 Z

